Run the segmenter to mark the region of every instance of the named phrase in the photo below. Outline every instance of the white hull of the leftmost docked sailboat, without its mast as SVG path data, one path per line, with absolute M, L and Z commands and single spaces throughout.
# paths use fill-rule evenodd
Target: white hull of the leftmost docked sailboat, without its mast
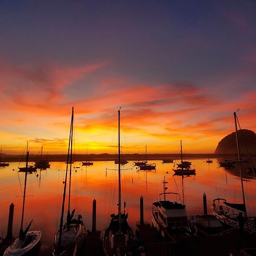
M 26 237 L 23 241 L 30 240 L 32 241 L 28 243 L 26 246 L 22 246 L 22 241 L 19 238 L 16 240 L 5 250 L 3 256 L 22 256 L 26 253 L 30 252 L 32 249 L 38 245 L 41 239 L 42 232 L 41 231 L 28 231 Z

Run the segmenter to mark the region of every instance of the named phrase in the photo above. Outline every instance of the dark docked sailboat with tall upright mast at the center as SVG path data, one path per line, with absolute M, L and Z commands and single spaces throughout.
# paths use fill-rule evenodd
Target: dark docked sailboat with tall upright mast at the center
M 111 220 L 102 241 L 104 253 L 108 256 L 126 255 L 125 253 L 129 252 L 130 243 L 134 240 L 133 230 L 127 222 L 126 203 L 121 213 L 120 109 L 118 110 L 118 214 L 110 215 Z M 121 254 L 118 254 L 118 250 L 122 250 Z

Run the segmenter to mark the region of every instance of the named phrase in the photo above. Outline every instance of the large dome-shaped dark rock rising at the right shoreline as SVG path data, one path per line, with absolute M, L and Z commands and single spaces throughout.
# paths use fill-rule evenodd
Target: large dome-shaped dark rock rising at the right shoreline
M 242 129 L 238 131 L 241 154 L 246 155 L 246 147 L 249 154 L 256 154 L 256 134 L 254 131 Z M 236 132 L 233 132 L 218 143 L 214 154 L 237 154 Z

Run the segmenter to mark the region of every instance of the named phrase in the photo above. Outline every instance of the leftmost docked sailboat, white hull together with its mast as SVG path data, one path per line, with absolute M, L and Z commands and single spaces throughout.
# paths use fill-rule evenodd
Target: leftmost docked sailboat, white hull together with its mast
M 28 167 L 28 155 L 27 151 L 27 160 L 26 167 Z M 35 247 L 39 244 L 41 239 L 42 232 L 28 231 L 32 224 L 32 220 L 30 224 L 28 224 L 27 228 L 23 230 L 23 219 L 24 219 L 24 209 L 25 209 L 25 199 L 26 199 L 26 187 L 27 187 L 27 171 L 25 172 L 25 181 L 24 181 L 24 193 L 23 193 L 23 204 L 22 204 L 22 218 L 19 230 L 19 237 L 5 250 L 4 256 L 22 256 L 27 253 L 30 253 Z

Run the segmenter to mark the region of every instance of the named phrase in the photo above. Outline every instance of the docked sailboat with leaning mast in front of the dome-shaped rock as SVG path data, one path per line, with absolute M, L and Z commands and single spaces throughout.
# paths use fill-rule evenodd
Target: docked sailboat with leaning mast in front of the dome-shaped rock
M 238 111 L 238 110 L 237 110 Z M 234 112 L 234 124 L 236 129 L 236 141 L 237 141 L 237 156 L 238 156 L 238 168 L 240 171 L 240 180 L 241 180 L 241 191 L 242 191 L 242 200 L 243 203 L 229 203 L 226 199 L 216 198 L 213 200 L 213 215 L 218 218 L 225 226 L 232 228 L 239 225 L 238 216 L 245 217 L 247 219 L 246 213 L 246 204 L 245 204 L 245 191 L 243 189 L 243 177 L 241 170 L 241 158 L 240 158 L 240 144 L 238 142 L 238 133 L 237 133 L 237 113 Z M 216 203 L 218 202 L 218 205 Z

